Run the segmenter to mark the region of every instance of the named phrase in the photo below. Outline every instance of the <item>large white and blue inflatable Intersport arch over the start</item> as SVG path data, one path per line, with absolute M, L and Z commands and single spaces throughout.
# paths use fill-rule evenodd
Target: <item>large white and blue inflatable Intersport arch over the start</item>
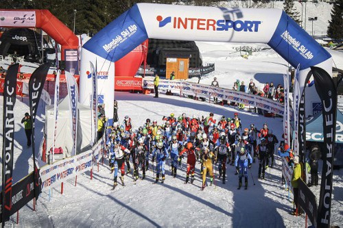
M 91 101 L 92 81 L 86 74 L 90 72 L 89 62 L 95 64 L 97 60 L 98 72 L 114 75 L 111 62 L 147 38 L 265 43 L 295 68 L 300 65 L 300 85 L 305 85 L 310 66 L 324 68 L 332 75 L 331 55 L 283 10 L 137 3 L 82 47 L 80 102 Z M 109 118 L 113 116 L 113 84 L 113 77 L 102 77 L 97 87 Z M 315 90 L 314 94 L 307 92 L 307 97 L 313 96 L 318 97 Z

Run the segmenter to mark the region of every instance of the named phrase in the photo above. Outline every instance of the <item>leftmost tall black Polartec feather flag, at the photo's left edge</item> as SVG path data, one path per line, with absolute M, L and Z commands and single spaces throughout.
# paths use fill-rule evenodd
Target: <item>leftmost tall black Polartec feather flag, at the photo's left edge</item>
M 16 75 L 19 64 L 8 68 L 3 88 L 3 150 L 2 150 L 2 204 L 3 224 L 10 219 L 12 207 L 12 173 L 14 146 L 14 105 L 16 103 Z

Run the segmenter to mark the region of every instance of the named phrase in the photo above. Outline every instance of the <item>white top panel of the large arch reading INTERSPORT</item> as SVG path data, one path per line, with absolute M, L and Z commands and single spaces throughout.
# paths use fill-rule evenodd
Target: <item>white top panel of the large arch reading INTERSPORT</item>
M 282 10 L 138 3 L 149 38 L 267 43 Z

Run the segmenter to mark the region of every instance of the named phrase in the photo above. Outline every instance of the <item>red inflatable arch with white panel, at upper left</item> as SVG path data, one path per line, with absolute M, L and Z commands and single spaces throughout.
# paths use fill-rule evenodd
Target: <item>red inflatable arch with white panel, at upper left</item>
M 78 74 L 78 37 L 49 10 L 0 10 L 0 27 L 43 29 L 61 45 L 65 70 Z

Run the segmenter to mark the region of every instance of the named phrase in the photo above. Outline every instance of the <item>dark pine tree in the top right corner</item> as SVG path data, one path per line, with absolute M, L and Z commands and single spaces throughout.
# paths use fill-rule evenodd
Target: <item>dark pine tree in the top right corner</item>
M 343 38 L 343 0 L 336 0 L 333 4 L 327 35 L 333 39 Z

